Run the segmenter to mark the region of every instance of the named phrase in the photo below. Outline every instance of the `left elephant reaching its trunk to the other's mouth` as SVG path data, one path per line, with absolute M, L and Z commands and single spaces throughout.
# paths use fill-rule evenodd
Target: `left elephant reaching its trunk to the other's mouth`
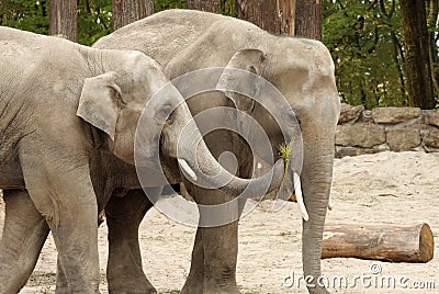
M 214 170 L 230 179 L 219 189 L 226 193 L 240 193 L 252 183 L 251 192 L 263 193 L 258 186 L 268 178 L 251 182 L 228 173 L 203 140 L 192 150 L 198 166 L 192 163 L 193 155 L 184 148 L 191 138 L 180 137 L 192 120 L 190 110 L 162 67 L 147 55 L 1 26 L 0 52 L 0 189 L 5 202 L 0 293 L 18 293 L 24 286 L 49 230 L 58 251 L 56 292 L 99 293 L 97 220 L 105 206 L 109 224 L 121 233 L 117 211 L 136 212 L 133 205 L 139 202 L 142 212 L 123 215 L 132 227 L 121 236 L 110 231 L 116 249 L 131 250 L 110 255 L 137 258 L 138 241 L 130 237 L 139 223 L 137 215 L 151 204 L 144 192 L 142 199 L 136 191 L 127 195 L 140 189 L 136 154 L 144 159 L 142 168 L 155 169 L 148 162 L 159 152 L 169 183 L 181 182 L 184 174 L 202 179 Z M 164 93 L 159 100 L 153 99 L 157 92 Z M 196 126 L 191 132 L 201 137 Z M 270 189 L 280 185 L 283 169 L 279 161 Z M 144 189 L 158 194 L 161 185 Z M 142 271 L 138 264 L 134 271 Z M 121 264 L 113 268 L 123 270 Z M 155 292 L 142 281 L 142 293 Z

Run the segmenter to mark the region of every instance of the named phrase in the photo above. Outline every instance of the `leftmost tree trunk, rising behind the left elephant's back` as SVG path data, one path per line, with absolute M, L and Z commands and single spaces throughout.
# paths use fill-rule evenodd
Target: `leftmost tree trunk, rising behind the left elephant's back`
M 77 41 L 77 1 L 50 0 L 49 35 L 60 35 Z

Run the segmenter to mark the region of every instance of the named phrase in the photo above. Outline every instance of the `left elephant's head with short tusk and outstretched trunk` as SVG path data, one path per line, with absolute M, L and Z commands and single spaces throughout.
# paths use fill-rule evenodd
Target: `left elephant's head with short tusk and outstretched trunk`
M 106 134 L 110 151 L 134 165 L 134 146 L 137 145 L 142 148 L 136 152 L 140 152 L 145 165 L 148 161 L 158 162 L 156 159 L 160 152 L 177 159 L 180 169 L 194 181 L 200 177 L 211 185 L 234 194 L 245 191 L 250 180 L 229 174 L 212 156 L 196 125 L 191 123 L 188 105 L 169 83 L 161 67 L 138 52 L 114 52 L 125 57 L 119 63 L 120 68 L 114 69 L 113 66 L 112 70 L 86 79 L 77 110 L 78 116 Z M 159 99 L 153 99 L 156 93 L 159 93 Z M 193 136 L 180 137 L 182 129 L 188 126 Z M 136 134 L 139 127 L 142 132 Z M 195 150 L 184 148 L 195 138 L 200 138 Z M 183 151 L 178 152 L 178 149 Z M 283 178 L 282 167 L 283 162 L 275 166 L 272 179 L 266 177 L 254 180 L 251 193 L 263 195 L 267 188 L 270 191 L 279 188 Z M 212 173 L 216 177 L 207 176 Z M 159 184 L 164 183 L 151 185 Z

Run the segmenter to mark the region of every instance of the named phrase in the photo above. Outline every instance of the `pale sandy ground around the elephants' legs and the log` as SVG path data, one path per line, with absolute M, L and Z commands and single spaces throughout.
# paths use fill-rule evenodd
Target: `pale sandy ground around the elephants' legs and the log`
M 340 287 L 337 280 L 336 286 L 331 286 L 330 291 L 380 294 L 439 293 L 438 197 L 439 154 L 381 152 L 336 159 L 331 194 L 335 210 L 328 214 L 329 222 L 427 223 L 436 238 L 437 257 L 428 263 L 420 264 L 357 259 L 324 260 L 323 272 L 329 283 L 337 278 L 348 281 L 347 287 Z M 299 208 L 295 203 L 289 203 L 281 211 L 273 213 L 270 211 L 271 206 L 271 201 L 264 201 L 240 220 L 237 270 L 239 287 L 244 293 L 307 293 L 304 281 L 300 279 L 302 263 Z M 189 271 L 195 230 L 176 224 L 155 210 L 149 212 L 145 219 L 140 230 L 144 270 L 160 293 L 178 293 L 177 290 L 183 285 Z M 99 230 L 99 250 L 101 291 L 106 293 L 104 225 Z M 50 238 L 31 280 L 21 293 L 53 293 L 55 263 L 56 249 Z M 373 274 L 375 271 L 379 273 Z M 293 280 L 284 281 L 288 276 L 293 276 Z M 364 280 L 356 276 L 363 276 Z M 386 282 L 381 283 L 382 278 L 394 279 L 395 289 L 392 283 L 390 287 Z

